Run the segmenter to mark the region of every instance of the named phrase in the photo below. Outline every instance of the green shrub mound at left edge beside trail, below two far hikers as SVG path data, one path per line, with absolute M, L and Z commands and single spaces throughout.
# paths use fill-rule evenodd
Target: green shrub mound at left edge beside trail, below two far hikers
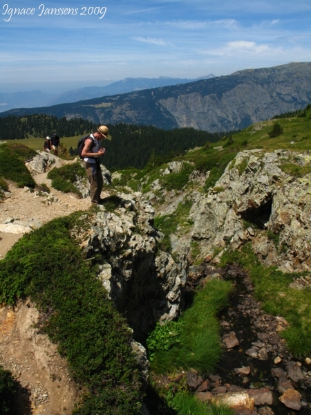
M 25 160 L 36 156 L 36 151 L 22 144 L 0 145 L 0 177 L 14 181 L 18 187 L 35 187 Z

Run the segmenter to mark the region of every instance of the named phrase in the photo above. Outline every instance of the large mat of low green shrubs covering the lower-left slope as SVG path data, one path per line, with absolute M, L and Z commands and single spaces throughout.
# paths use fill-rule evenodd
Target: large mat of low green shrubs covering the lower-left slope
M 59 344 L 86 389 L 76 414 L 139 414 L 131 333 L 70 238 L 74 223 L 84 225 L 77 214 L 55 219 L 13 246 L 0 262 L 0 302 L 30 296 L 44 313 L 39 328 Z

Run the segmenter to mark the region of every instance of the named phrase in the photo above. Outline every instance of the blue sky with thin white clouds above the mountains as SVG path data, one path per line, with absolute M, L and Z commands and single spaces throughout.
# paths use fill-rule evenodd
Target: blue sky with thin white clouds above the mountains
M 0 92 L 311 61 L 310 0 L 7 1 Z

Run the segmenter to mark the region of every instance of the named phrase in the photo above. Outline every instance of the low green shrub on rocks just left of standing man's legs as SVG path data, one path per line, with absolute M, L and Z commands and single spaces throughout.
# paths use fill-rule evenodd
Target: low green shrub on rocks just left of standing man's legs
M 77 187 L 73 185 L 77 177 L 86 177 L 86 171 L 79 162 L 58 168 L 55 167 L 48 172 L 48 178 L 52 180 L 52 187 L 64 193 L 80 194 Z

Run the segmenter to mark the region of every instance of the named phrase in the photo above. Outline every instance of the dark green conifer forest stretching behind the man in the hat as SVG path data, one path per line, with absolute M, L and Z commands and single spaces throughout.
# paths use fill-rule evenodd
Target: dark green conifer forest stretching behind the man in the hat
M 208 133 L 193 128 L 176 128 L 164 130 L 153 125 L 135 125 L 118 122 L 107 124 L 111 141 L 103 142 L 106 156 L 102 163 L 108 169 L 124 169 L 135 167 L 144 168 L 151 160 L 152 167 L 160 165 L 174 156 L 185 154 L 188 149 L 205 145 L 207 142 L 216 142 L 228 133 Z M 97 124 L 82 118 L 66 120 L 45 114 L 32 116 L 7 116 L 0 118 L 0 139 L 45 138 L 57 132 L 65 140 L 64 145 L 72 156 L 77 155 L 77 141 L 80 136 L 96 131 Z M 229 133 L 230 134 L 230 133 Z M 69 142 L 66 138 L 71 137 Z M 21 140 L 29 146 L 31 141 Z M 40 149 L 41 144 L 40 142 Z M 30 146 L 31 147 L 31 146 Z M 38 149 L 38 147 L 32 147 Z

